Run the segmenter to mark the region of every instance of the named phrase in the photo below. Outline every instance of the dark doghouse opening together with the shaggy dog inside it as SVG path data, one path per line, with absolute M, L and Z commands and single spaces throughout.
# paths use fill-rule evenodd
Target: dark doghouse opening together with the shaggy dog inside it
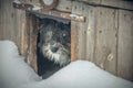
M 70 23 L 40 20 L 38 74 L 48 78 L 70 63 Z

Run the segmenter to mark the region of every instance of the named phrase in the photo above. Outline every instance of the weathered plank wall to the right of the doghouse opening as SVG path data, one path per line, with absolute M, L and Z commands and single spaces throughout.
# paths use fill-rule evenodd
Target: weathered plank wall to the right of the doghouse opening
M 72 52 L 75 59 L 91 61 L 114 75 L 133 80 L 133 11 L 121 8 L 73 1 L 72 13 L 84 15 L 86 21 L 72 21 Z

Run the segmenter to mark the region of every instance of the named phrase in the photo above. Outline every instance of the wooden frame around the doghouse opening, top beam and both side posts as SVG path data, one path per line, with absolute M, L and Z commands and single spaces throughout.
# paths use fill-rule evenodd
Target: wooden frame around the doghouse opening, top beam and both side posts
M 55 21 L 60 21 L 62 23 L 72 23 L 75 26 L 71 28 L 71 61 L 74 61 L 76 58 L 76 41 L 78 41 L 78 22 L 84 22 L 84 18 L 82 15 L 78 14 L 72 14 L 69 12 L 62 12 L 62 11 L 57 11 L 57 10 L 45 10 L 42 9 L 41 12 L 33 11 L 32 8 L 34 6 L 29 4 L 29 3 L 17 3 L 13 2 L 13 7 L 17 9 L 23 9 L 25 11 L 25 18 L 27 21 L 24 23 L 25 29 L 23 29 L 23 34 L 22 34 L 22 55 L 25 56 L 25 62 L 28 62 L 35 72 L 39 70 L 40 65 L 38 63 L 38 42 L 39 42 L 39 22 L 40 19 L 44 19 L 44 15 L 49 19 L 54 19 Z M 41 13 L 41 14 L 40 14 Z M 60 19 L 59 19 L 60 18 Z M 65 21 L 64 21 L 65 19 Z M 71 21 L 72 20 L 72 21 Z M 40 62 L 42 63 L 42 62 Z M 40 66 L 42 67 L 42 66 Z

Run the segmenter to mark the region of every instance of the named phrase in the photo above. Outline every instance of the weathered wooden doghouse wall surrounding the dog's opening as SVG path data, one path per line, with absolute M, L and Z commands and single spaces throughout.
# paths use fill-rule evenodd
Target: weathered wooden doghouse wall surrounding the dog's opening
M 88 59 L 133 80 L 133 2 L 130 0 L 0 0 L 0 40 L 12 40 L 37 67 L 38 19 L 30 12 L 71 21 L 71 61 Z M 55 1 L 55 2 L 54 2 Z M 55 3 L 55 4 L 54 4 Z

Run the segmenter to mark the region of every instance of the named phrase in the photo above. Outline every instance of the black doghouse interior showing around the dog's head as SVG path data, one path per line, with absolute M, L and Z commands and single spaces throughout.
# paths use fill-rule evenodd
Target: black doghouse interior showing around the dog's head
M 69 33 L 69 36 L 65 37 L 66 40 L 69 40 L 68 42 L 71 42 L 71 22 L 68 20 L 62 20 L 62 19 L 58 19 L 58 18 L 53 18 L 53 16 L 44 16 L 41 18 L 38 15 L 39 19 L 39 33 L 38 33 L 38 41 L 37 41 L 37 63 L 38 63 L 38 74 L 40 76 L 42 76 L 44 79 L 48 78 L 49 76 L 53 75 L 55 72 L 58 72 L 60 68 L 62 68 L 63 66 L 60 66 L 59 64 L 55 64 L 55 62 L 48 59 L 47 57 L 44 57 L 43 53 L 42 53 L 42 40 L 44 40 L 42 37 L 41 33 L 41 26 L 42 24 L 49 24 L 51 22 L 55 23 L 55 24 L 60 24 L 60 28 L 62 30 L 68 31 L 66 33 Z M 52 25 L 51 25 L 52 26 Z M 65 29 L 66 28 L 66 29 Z M 44 29 L 43 29 L 44 30 Z M 54 29 L 53 29 L 54 30 Z M 60 32 L 58 32 L 58 35 L 61 35 Z M 54 37 L 53 37 L 54 38 Z M 62 38 L 63 40 L 63 38 Z M 65 40 L 64 40 L 65 41 Z M 66 41 L 65 41 L 66 42 Z M 64 42 L 64 43 L 65 43 Z M 65 46 L 65 44 L 64 44 Z M 70 43 L 70 47 L 69 51 L 71 50 L 71 43 Z M 71 51 L 70 51 L 71 54 Z M 70 56 L 71 57 L 71 56 Z M 71 59 L 71 58 L 69 58 Z

